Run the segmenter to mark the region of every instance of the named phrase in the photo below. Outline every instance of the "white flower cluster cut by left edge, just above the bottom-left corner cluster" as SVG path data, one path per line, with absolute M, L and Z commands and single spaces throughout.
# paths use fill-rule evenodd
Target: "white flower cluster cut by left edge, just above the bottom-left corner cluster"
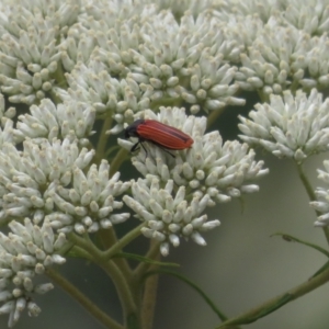
M 71 138 L 73 139 L 73 138 Z M 52 143 L 30 139 L 23 151 L 4 143 L 0 150 L 0 220 L 32 216 L 39 223 L 54 211 L 52 192 L 71 182 L 72 168 L 86 168 L 94 151 L 79 151 L 77 141 L 66 137 Z

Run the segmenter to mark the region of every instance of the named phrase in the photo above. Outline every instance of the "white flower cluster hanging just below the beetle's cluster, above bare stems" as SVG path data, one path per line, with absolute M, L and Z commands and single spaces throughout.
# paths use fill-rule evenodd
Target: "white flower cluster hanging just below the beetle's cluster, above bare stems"
M 205 246 L 201 232 L 219 225 L 219 220 L 207 220 L 206 215 L 201 215 L 209 202 L 207 194 L 188 202 L 185 188 L 175 190 L 172 180 L 161 189 L 159 179 L 148 175 L 134 182 L 132 192 L 133 197 L 125 195 L 123 200 L 140 220 L 147 223 L 141 232 L 161 242 L 162 256 L 168 256 L 170 245 L 178 247 L 181 237 Z

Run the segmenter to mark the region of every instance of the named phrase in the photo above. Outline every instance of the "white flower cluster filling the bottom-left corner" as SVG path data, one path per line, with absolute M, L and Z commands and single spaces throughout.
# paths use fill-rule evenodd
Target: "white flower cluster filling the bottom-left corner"
M 35 294 L 45 294 L 54 286 L 39 283 L 38 276 L 53 264 L 65 263 L 58 252 L 65 248 L 64 234 L 56 235 L 45 220 L 42 227 L 25 218 L 24 225 L 12 220 L 10 232 L 0 232 L 0 314 L 9 314 L 12 328 L 22 311 L 37 316 L 41 308 L 33 300 Z

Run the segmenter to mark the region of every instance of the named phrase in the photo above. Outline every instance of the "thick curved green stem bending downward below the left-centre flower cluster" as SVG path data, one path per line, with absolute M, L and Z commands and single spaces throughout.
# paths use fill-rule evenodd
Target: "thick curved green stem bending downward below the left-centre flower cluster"
M 98 249 L 87 236 L 82 238 L 76 234 L 70 234 L 69 239 L 70 241 L 75 242 L 78 247 L 89 252 L 92 257 L 93 262 L 99 264 L 113 280 L 113 283 L 118 294 L 118 298 L 122 303 L 124 318 L 126 319 L 128 315 L 136 313 L 136 304 L 133 298 L 128 282 L 126 281 L 123 273 L 120 271 L 118 266 L 113 261 L 104 259 L 102 257 L 103 251 Z

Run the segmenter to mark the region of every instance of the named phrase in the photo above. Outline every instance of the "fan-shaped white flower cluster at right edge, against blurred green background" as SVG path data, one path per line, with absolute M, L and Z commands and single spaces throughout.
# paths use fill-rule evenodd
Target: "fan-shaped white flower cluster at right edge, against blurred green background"
M 313 89 L 309 97 L 300 90 L 294 97 L 272 94 L 270 104 L 257 104 L 240 116 L 240 138 L 249 145 L 260 145 L 279 158 L 302 162 L 308 156 L 329 149 L 329 100 Z

